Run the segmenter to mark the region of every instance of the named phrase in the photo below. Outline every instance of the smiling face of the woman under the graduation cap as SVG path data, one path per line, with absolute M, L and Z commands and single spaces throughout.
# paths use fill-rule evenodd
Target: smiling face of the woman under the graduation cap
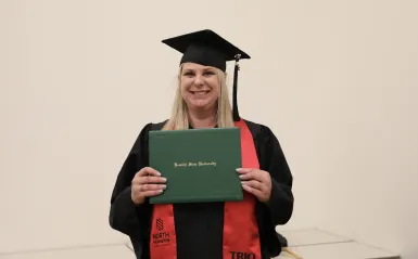
M 217 107 L 220 85 L 215 67 L 183 63 L 180 88 L 189 109 L 207 111 Z

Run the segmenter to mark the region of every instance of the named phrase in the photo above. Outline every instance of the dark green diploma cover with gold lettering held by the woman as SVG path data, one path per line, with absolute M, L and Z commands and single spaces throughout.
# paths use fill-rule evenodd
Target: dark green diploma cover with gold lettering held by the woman
M 150 131 L 150 167 L 167 178 L 151 204 L 242 200 L 239 128 Z

